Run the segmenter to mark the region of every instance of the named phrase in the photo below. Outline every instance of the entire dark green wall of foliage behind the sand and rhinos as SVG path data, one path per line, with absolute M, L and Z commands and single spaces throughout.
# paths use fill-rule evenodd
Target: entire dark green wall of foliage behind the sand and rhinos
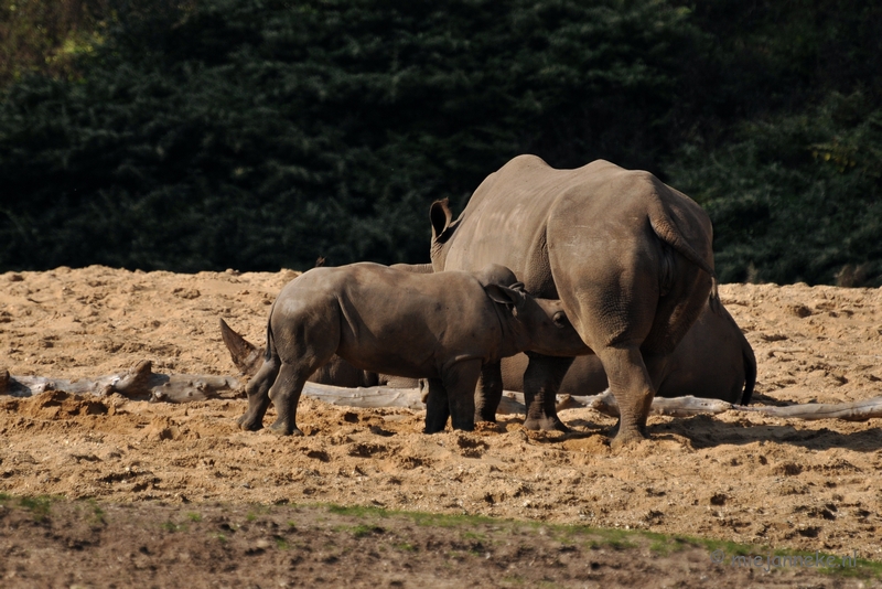
M 882 282 L 869 3 L 20 3 L 4 55 L 66 61 L 4 69 L 0 271 L 424 261 L 531 152 L 692 195 L 724 280 Z

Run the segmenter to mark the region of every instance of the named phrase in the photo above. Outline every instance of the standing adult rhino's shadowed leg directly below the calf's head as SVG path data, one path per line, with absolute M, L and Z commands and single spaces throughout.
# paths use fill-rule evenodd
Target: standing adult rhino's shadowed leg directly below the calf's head
M 527 355 L 530 362 L 524 374 L 524 403 L 527 405 L 524 427 L 531 430 L 569 431 L 558 417 L 557 394 L 573 358 L 545 356 L 533 352 L 527 352 Z

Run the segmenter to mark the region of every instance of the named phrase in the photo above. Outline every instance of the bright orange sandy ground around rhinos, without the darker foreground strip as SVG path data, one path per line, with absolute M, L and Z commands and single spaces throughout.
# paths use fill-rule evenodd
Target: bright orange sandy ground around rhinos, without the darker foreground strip
M 234 375 L 217 318 L 262 344 L 269 304 L 294 276 L 105 267 L 0 275 L 0 371 L 80 378 L 151 360 L 158 373 Z M 720 290 L 756 352 L 756 403 L 882 396 L 882 290 Z M 426 436 L 419 411 L 304 399 L 298 422 L 306 437 L 278 438 L 239 431 L 245 406 L 0 397 L 0 493 L 117 511 L 178 506 L 180 520 L 196 505 L 256 504 L 481 514 L 882 560 L 878 419 L 653 417 L 650 441 L 613 453 L 613 420 L 589 409 L 561 413 L 569 435 L 528 432 L 506 417 L 473 433 Z M 270 409 L 266 422 L 272 418 Z M 2 513 L 9 521 L 10 508 Z M 0 554 L 9 555 L 15 534 L 4 529 Z M 14 574 L 10 567 L 0 564 L 0 576 Z M 555 582 L 580 579 L 568 575 Z M 615 579 L 605 582 L 627 585 Z

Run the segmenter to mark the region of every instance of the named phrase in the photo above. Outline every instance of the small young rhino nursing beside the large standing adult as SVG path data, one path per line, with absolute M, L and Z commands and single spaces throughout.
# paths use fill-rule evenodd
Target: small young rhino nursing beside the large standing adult
M 282 288 L 270 310 L 263 365 L 248 382 L 243 429 L 302 432 L 297 406 L 306 378 L 334 354 L 356 368 L 429 378 L 426 432 L 474 429 L 481 367 L 526 350 L 574 355 L 587 349 L 560 301 L 535 299 L 508 268 L 412 274 L 378 264 L 313 268 Z

